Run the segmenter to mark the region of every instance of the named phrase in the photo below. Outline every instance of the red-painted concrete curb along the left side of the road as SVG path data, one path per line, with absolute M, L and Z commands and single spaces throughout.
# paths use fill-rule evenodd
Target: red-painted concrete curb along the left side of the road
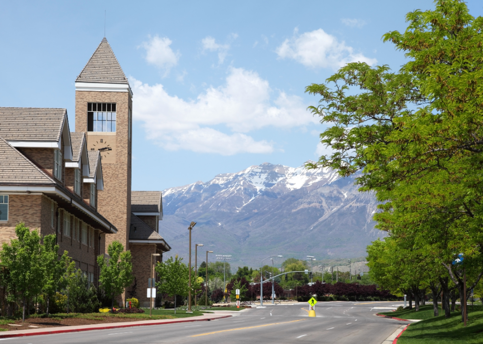
M 202 315 L 203 316 L 203 315 Z M 171 321 L 162 320 L 143 320 L 143 321 L 133 321 L 131 323 L 115 323 L 106 324 L 105 326 L 96 326 L 95 325 L 82 325 L 82 326 L 65 326 L 59 329 L 52 329 L 51 327 L 47 327 L 44 329 L 35 329 L 35 330 L 20 330 L 22 333 L 18 333 L 20 331 L 9 331 L 9 332 L 1 332 L 0 333 L 0 340 L 2 338 L 12 338 L 12 337 L 28 337 L 28 336 L 40 336 L 40 335 L 53 335 L 58 333 L 69 333 L 69 332 L 83 332 L 83 331 L 94 331 L 94 330 L 108 330 L 114 328 L 125 328 L 125 327 L 135 327 L 135 326 L 152 326 L 152 325 L 165 325 L 165 324 L 174 324 L 174 323 L 183 323 L 183 322 L 195 322 L 195 321 L 210 321 L 210 320 L 218 320 L 229 318 L 233 315 L 220 315 L 220 316 L 213 316 L 213 317 L 206 317 L 203 319 L 173 319 Z M 96 324 L 97 325 L 97 324 Z M 72 328 L 69 328 L 72 327 Z M 17 332 L 17 333 L 15 333 Z

